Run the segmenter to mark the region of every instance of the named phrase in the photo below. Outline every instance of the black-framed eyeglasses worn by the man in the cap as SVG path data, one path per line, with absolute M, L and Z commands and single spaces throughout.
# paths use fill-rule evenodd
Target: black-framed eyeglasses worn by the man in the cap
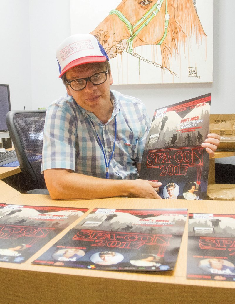
M 87 81 L 89 80 L 93 85 L 101 85 L 104 83 L 107 79 L 107 71 L 96 73 L 92 75 L 91 77 L 87 78 L 79 78 L 79 79 L 74 79 L 71 81 L 67 81 L 67 84 L 70 85 L 70 87 L 74 91 L 79 91 L 84 88 L 86 88 Z

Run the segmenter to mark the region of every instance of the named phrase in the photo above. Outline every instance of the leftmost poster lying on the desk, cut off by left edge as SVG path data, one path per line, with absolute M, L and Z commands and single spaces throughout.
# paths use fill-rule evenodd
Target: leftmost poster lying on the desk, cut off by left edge
M 0 262 L 23 263 L 87 210 L 0 204 Z

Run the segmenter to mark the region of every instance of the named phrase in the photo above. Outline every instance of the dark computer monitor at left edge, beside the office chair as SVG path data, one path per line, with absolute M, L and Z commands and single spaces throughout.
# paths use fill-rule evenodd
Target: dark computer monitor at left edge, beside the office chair
M 8 138 L 6 125 L 7 112 L 11 110 L 9 85 L 0 84 L 0 138 Z

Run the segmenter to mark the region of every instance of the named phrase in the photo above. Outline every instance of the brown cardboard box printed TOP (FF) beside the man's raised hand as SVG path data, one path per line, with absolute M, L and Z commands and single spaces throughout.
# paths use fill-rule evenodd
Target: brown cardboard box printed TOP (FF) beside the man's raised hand
M 210 114 L 210 133 L 221 136 L 218 150 L 235 151 L 235 114 Z

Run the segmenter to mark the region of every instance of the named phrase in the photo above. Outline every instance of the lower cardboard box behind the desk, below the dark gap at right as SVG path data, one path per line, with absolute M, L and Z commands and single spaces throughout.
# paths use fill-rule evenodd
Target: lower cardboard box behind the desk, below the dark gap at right
M 210 184 L 207 185 L 207 197 L 212 200 L 234 201 L 235 185 L 230 184 Z

